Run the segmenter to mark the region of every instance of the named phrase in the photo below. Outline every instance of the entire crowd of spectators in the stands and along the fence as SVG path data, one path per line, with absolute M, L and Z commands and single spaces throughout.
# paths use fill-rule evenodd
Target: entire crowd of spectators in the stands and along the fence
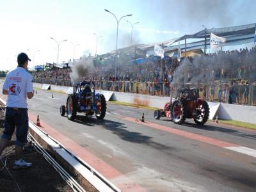
M 161 76 L 161 63 L 163 66 L 163 76 Z M 179 69 L 182 67 L 188 68 L 188 70 L 183 70 L 182 74 L 178 74 Z M 215 100 L 217 97 L 217 100 L 220 102 L 230 101 L 248 104 L 248 86 L 250 84 L 255 85 L 256 81 L 256 49 L 245 48 L 239 51 L 221 51 L 193 58 L 181 58 L 180 60 L 177 58 L 150 60 L 148 58 L 148 60 L 140 64 L 135 62 L 131 64 L 128 61 L 117 62 L 117 77 L 115 77 L 115 63 L 108 62 L 106 65 L 94 65 L 88 71 L 88 74 L 84 74 L 81 79 L 130 82 L 129 86 L 132 85 L 132 89 L 134 89 L 132 92 L 138 92 L 139 86 L 138 83 L 136 85 L 136 82 L 143 82 L 145 84 L 140 85 L 140 89 L 143 86 L 152 95 L 169 96 L 170 84 L 174 83 L 173 79 L 175 79 L 175 76 L 183 76 L 185 71 L 188 72 L 186 74 L 188 78 L 186 78 L 186 82 L 182 83 L 195 83 L 189 81 L 193 80 L 193 78 L 195 79 L 195 77 L 197 79 L 200 77 L 203 79 L 200 83 L 209 84 L 208 88 L 204 88 L 204 92 L 209 92 L 208 99 L 214 100 L 215 95 Z M 72 72 L 72 67 L 52 68 L 46 71 L 33 72 L 33 77 L 34 79 L 70 81 L 70 72 Z M 111 85 L 106 86 L 106 88 L 108 90 L 111 89 Z M 120 88 L 124 88 L 124 86 L 121 85 Z M 127 89 L 127 86 L 125 86 L 124 91 L 126 91 L 125 89 Z M 256 92 L 255 90 L 254 88 L 252 92 Z M 254 95 L 256 97 L 256 93 Z M 206 93 L 203 96 L 206 97 Z M 254 102 L 256 103 L 256 100 Z

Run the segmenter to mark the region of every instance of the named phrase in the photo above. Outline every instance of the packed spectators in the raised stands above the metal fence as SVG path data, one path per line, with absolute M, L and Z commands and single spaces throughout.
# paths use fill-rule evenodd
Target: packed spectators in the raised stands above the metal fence
M 198 59 L 200 58 L 200 59 Z M 140 81 L 151 82 L 156 78 L 159 82 L 172 82 L 175 70 L 182 65 L 181 58 L 168 58 L 167 60 L 150 60 L 140 64 L 129 64 L 128 62 L 117 63 L 116 65 L 116 80 L 119 81 Z M 195 56 L 187 58 L 187 60 L 197 61 L 200 69 L 200 74 L 212 76 L 215 79 L 243 79 L 248 81 L 256 80 L 256 49 L 240 49 L 240 51 L 219 52 L 218 54 L 207 54 L 206 56 Z M 161 62 L 163 62 L 163 76 L 161 77 Z M 41 72 L 34 72 L 33 76 L 36 79 L 70 79 L 69 73 L 72 68 L 55 68 Z M 193 76 L 193 71 L 190 71 L 189 76 Z M 85 79 L 94 81 L 115 81 L 115 65 L 94 66 L 88 74 L 84 74 Z M 205 82 L 207 83 L 207 82 Z

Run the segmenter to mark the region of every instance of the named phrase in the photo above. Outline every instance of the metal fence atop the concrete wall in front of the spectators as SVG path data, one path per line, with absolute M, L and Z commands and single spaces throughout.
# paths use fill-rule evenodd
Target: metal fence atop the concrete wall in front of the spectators
M 33 79 L 33 82 L 72 86 L 70 80 L 63 79 Z M 170 93 L 172 93 L 172 97 L 177 95 L 177 87 L 171 88 L 168 83 L 95 81 L 95 86 L 97 90 L 113 92 L 138 93 L 161 97 L 170 97 Z M 230 98 L 229 84 L 227 83 L 186 84 L 186 86 L 198 88 L 200 98 L 207 101 L 228 103 Z M 232 92 L 232 103 L 256 106 L 256 84 L 236 84 Z

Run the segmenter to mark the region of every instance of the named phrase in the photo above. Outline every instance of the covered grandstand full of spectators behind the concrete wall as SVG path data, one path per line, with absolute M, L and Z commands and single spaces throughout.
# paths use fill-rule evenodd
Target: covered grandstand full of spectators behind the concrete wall
M 154 44 L 137 44 L 118 49 L 116 61 L 116 52 L 108 52 L 93 57 L 93 69 L 80 79 L 97 81 L 99 89 L 162 96 L 169 96 L 171 87 L 182 84 L 207 84 L 207 99 L 228 102 L 225 95 L 233 94 L 234 103 L 256 105 L 255 47 L 204 54 L 202 49 L 209 47 L 208 38 L 211 33 L 227 38 L 225 46 L 246 44 L 253 42 L 255 24 L 205 29 L 194 35 L 158 42 L 157 44 L 164 47 L 163 59 L 152 54 Z M 206 41 L 186 44 L 186 40 L 190 38 L 205 38 Z M 173 44 L 182 40 L 185 44 L 180 45 L 182 58 L 178 60 L 178 45 Z M 114 65 L 117 70 L 116 77 Z M 58 68 L 33 72 L 33 76 L 38 83 L 70 86 L 70 72 L 72 68 Z M 214 91 L 212 83 L 216 88 Z

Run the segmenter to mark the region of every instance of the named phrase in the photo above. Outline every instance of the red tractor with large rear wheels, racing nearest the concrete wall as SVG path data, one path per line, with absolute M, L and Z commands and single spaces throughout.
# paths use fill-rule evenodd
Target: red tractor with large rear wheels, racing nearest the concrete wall
M 193 118 L 196 124 L 203 125 L 209 118 L 209 106 L 205 100 L 199 99 L 197 88 L 179 88 L 177 97 L 171 103 L 165 104 L 164 109 L 154 111 L 154 118 L 170 117 L 175 124 L 182 124 L 186 118 Z

